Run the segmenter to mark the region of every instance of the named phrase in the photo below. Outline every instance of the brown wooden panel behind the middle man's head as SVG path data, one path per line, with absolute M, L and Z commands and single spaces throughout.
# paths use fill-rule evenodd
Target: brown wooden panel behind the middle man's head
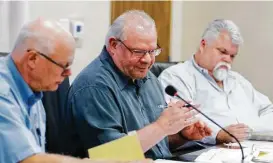
M 156 57 L 156 61 L 169 61 L 171 1 L 112 1 L 111 23 L 123 12 L 132 9 L 143 10 L 155 20 L 158 43 L 163 48 L 162 53 Z

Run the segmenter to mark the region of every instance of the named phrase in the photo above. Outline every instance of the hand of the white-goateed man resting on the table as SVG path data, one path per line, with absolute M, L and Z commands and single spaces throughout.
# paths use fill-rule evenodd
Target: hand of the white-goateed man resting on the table
M 243 124 L 235 124 L 230 125 L 225 128 L 228 132 L 230 132 L 232 135 L 234 135 L 239 141 L 245 140 L 248 138 L 250 128 Z M 217 143 L 229 143 L 229 142 L 236 142 L 236 140 L 232 137 L 230 137 L 226 132 L 223 130 L 220 130 L 216 137 Z

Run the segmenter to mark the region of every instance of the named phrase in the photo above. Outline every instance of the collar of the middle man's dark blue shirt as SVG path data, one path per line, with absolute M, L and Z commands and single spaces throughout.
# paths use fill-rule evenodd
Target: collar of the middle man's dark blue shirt
M 108 70 L 110 70 L 112 74 L 114 74 L 114 78 L 121 90 L 123 90 L 128 84 L 135 84 L 140 87 L 148 79 L 151 78 L 150 73 L 148 73 L 148 75 L 145 76 L 143 79 L 137 79 L 137 80 L 135 80 L 135 82 L 133 82 L 130 77 L 126 76 L 115 65 L 112 57 L 110 56 L 109 52 L 106 50 L 105 46 L 104 46 L 99 57 L 100 57 L 101 62 L 106 66 L 106 68 Z

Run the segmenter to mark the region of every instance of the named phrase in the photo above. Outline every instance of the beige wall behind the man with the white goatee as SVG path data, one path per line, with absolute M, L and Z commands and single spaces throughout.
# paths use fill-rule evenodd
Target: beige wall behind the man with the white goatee
M 195 52 L 208 22 L 231 19 L 245 40 L 233 69 L 273 100 L 272 15 L 273 2 L 183 2 L 182 59 Z

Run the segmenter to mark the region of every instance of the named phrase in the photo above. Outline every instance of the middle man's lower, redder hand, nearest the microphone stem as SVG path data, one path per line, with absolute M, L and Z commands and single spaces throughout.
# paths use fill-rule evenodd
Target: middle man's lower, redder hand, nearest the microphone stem
M 198 121 L 180 131 L 189 140 L 201 140 L 211 136 L 212 130 L 202 121 Z

